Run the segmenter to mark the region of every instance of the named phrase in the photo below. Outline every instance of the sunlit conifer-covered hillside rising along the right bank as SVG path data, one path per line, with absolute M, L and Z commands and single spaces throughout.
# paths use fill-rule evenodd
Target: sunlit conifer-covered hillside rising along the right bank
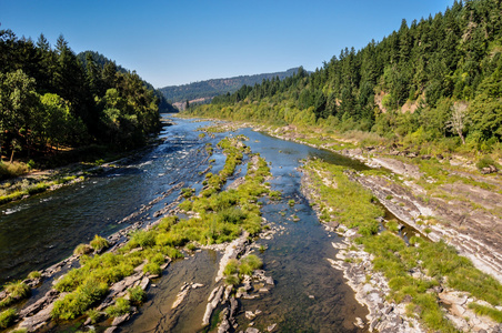
M 213 99 L 192 114 L 362 131 L 391 142 L 502 152 L 502 1 L 455 1 L 313 73 Z

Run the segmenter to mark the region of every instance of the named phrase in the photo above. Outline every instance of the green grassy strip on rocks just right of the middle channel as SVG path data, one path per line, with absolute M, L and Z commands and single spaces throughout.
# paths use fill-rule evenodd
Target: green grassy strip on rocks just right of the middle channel
M 388 300 L 406 303 L 408 315 L 419 316 L 429 330 L 456 332 L 444 316 L 438 295 L 449 289 L 464 292 L 472 299 L 469 307 L 475 313 L 502 323 L 502 285 L 499 281 L 475 269 L 470 260 L 460 256 L 443 241 L 430 242 L 413 236 L 406 244 L 392 224 L 379 233 L 380 222 L 375 218 L 383 211 L 370 191 L 349 180 L 343 168 L 310 160 L 303 170 L 310 179 L 309 190 L 314 193 L 320 219 L 358 230 L 360 236 L 353 244 L 362 245 L 373 255 L 374 270 L 384 274 L 391 289 Z

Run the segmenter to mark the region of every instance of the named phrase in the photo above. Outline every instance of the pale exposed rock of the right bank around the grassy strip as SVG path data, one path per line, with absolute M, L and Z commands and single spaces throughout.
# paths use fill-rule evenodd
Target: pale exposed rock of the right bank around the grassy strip
M 490 174 L 484 174 L 484 170 L 481 170 L 482 173 L 478 171 L 474 161 L 460 155 L 431 157 L 421 155 L 420 149 L 410 152 L 399 151 L 396 148 L 358 148 L 354 142 L 348 143 L 344 140 L 319 140 L 315 139 L 318 134 L 295 133 L 294 127 L 271 128 L 250 123 L 231 123 L 223 127 L 252 127 L 275 138 L 331 150 L 371 168 L 379 168 L 379 171 L 373 172 L 352 172 L 349 178 L 371 190 L 389 211 L 419 231 L 422 236 L 453 245 L 458 253 L 469 258 L 476 269 L 499 282 L 502 280 L 501 246 L 498 242 L 502 225 L 502 182 L 496 169 L 491 168 Z M 339 232 L 349 232 L 349 235 L 353 236 L 351 231 L 344 229 Z M 337 248 L 345 250 L 347 253 L 338 255 L 342 262 L 332 263 L 344 272 L 358 293 L 358 299 L 370 309 L 370 329 L 390 330 L 392 326 L 392 330 L 400 332 L 419 330 L 420 325 L 410 317 L 410 310 L 406 310 L 405 304 L 380 302 L 385 295 L 389 296 L 389 286 L 384 286 L 389 281 L 385 278 L 365 283 L 364 279 L 368 278 L 364 278 L 364 274 L 378 276 L 371 268 L 373 258 L 362 249 L 354 252 L 354 245 L 348 241 L 345 246 Z M 348 248 L 352 248 L 352 251 L 347 251 Z M 352 261 L 358 264 L 351 264 Z M 426 272 L 418 272 L 416 276 L 426 276 Z M 384 291 L 378 293 L 380 297 L 371 292 L 374 286 Z M 449 287 L 448 279 L 440 282 L 435 299 L 439 304 L 445 304 L 442 312 L 449 319 L 451 327 L 461 331 L 498 332 L 500 323 L 486 314 L 491 312 L 492 317 L 500 317 L 498 313 L 501 311 L 501 300 L 496 299 L 490 304 L 469 295 L 465 291 Z M 373 300 L 370 300 L 372 296 Z M 484 310 L 480 311 L 481 307 Z M 401 329 L 396 329 L 399 325 Z

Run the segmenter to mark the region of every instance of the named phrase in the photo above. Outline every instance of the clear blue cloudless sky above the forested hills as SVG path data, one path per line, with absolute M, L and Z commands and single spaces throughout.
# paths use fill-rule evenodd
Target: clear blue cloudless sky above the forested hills
M 155 88 L 322 67 L 453 0 L 0 0 L 1 29 L 53 46 L 63 34 Z

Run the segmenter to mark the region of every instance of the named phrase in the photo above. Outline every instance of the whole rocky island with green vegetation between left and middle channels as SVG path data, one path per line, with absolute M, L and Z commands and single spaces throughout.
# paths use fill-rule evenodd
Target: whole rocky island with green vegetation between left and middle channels
M 223 169 L 218 174 L 209 173 L 209 169 L 205 169 L 207 181 L 204 181 L 204 186 L 198 196 L 192 191 L 181 191 L 178 198 L 167 206 L 168 209 L 162 210 L 160 214 L 170 218 L 163 218 L 147 223 L 147 225 L 137 222 L 108 236 L 108 240 L 101 239 L 99 243 L 103 245 L 100 245 L 99 249 L 94 248 L 93 253 L 91 253 L 91 246 L 94 246 L 94 241 L 90 245 L 79 245 L 69 259 L 37 272 L 37 274 L 30 274 L 30 276 L 36 276 L 33 279 L 20 282 L 20 285 L 36 287 L 37 292 L 30 299 L 29 304 L 19 309 L 17 315 L 12 315 L 10 310 L 1 313 L 2 321 L 0 324 L 2 329 L 7 327 L 12 321 L 17 321 L 20 322 L 18 324 L 19 330 L 28 332 L 47 331 L 53 330 L 61 322 L 82 319 L 83 315 L 88 317 L 83 323 L 86 330 L 93 331 L 94 326 L 91 324 L 97 322 L 101 327 L 103 325 L 107 327 L 106 332 L 113 332 L 118 325 L 135 313 L 135 306 L 140 304 L 133 303 L 134 295 L 142 292 L 141 299 L 144 299 L 144 291 L 151 284 L 151 281 L 159 278 L 173 260 L 181 256 L 177 249 L 180 249 L 187 255 L 198 248 L 204 249 L 207 244 L 225 242 L 223 248 L 210 248 L 213 251 L 222 250 L 227 252 L 228 260 L 235 260 L 238 256 L 249 254 L 250 248 L 245 244 L 250 244 L 250 235 L 257 234 L 265 225 L 259 218 L 259 205 L 257 204 L 257 199 L 269 191 L 262 184 L 269 174 L 264 160 L 258 155 L 250 157 L 248 178 L 233 188 L 230 186 L 230 189 L 220 192 L 227 178 L 231 176 L 235 168 L 242 163 L 243 153 L 250 153 L 249 149 L 242 144 L 242 140 L 244 139 L 220 141 L 219 145 L 227 157 Z M 211 154 L 212 151 L 209 155 Z M 203 161 L 208 161 L 208 159 Z M 204 174 L 200 175 L 204 176 Z M 163 198 L 170 195 L 173 191 L 181 190 L 183 182 L 174 184 L 171 190 L 162 193 Z M 187 193 L 190 194 L 185 195 Z M 227 202 L 230 199 L 229 195 L 237 195 L 233 199 L 237 199 L 238 202 L 240 196 L 245 198 L 249 201 L 245 210 L 234 206 L 237 202 L 233 199 L 230 203 Z M 208 202 L 209 196 L 211 202 Z M 174 215 L 180 212 L 177 205 L 182 199 L 185 199 L 185 202 L 193 202 L 193 211 L 192 208 L 187 205 L 182 209 L 185 214 L 192 215 L 190 220 L 179 220 Z M 214 200 L 219 202 L 218 208 L 212 205 Z M 158 201 L 155 199 L 149 205 L 152 206 Z M 149 208 L 145 206 L 144 209 L 148 210 Z M 220 215 L 223 216 L 222 221 L 218 221 Z M 213 230 L 214 222 L 217 222 L 217 230 Z M 195 226 L 193 223 L 199 225 Z M 268 229 L 272 228 L 268 226 Z M 231 234 L 228 233 L 229 231 L 231 231 Z M 243 234 L 238 239 L 239 246 L 237 243 L 228 243 L 229 240 L 241 234 L 241 232 Z M 270 235 L 270 232 L 268 234 Z M 96 239 L 99 240 L 98 236 Z M 107 248 L 110 248 L 110 250 L 103 252 Z M 238 251 L 237 248 L 240 250 Z M 244 272 L 243 263 L 241 266 L 242 272 Z M 221 268 L 225 269 L 224 262 L 222 262 Z M 270 278 L 267 278 L 263 271 L 253 273 L 257 268 L 259 265 L 253 265 L 251 271 L 248 269 L 245 274 L 242 274 L 244 278 L 249 275 L 249 278 L 245 278 L 248 280 L 243 282 L 243 296 L 253 290 L 254 282 L 252 281 L 270 282 Z M 219 276 L 217 282 L 221 278 Z M 39 285 L 41 280 L 44 281 L 42 286 Z M 230 297 L 230 291 L 233 289 L 233 284 L 240 284 L 240 279 L 237 282 L 229 281 L 227 279 L 224 283 L 220 282 L 213 293 L 214 295 L 210 297 L 210 305 L 208 305 L 200 327 L 209 325 L 212 310 L 220 301 L 227 300 L 230 302 L 229 304 L 235 302 Z M 53 284 L 53 287 L 50 287 L 50 284 Z M 192 285 L 190 286 L 192 287 Z M 224 294 L 222 293 L 223 286 Z M 184 287 L 182 292 L 187 294 L 188 290 Z M 10 289 L 6 289 L 0 295 L 2 306 L 7 304 L 4 301 L 9 297 L 14 297 L 13 293 Z M 177 306 L 183 301 L 183 297 L 179 297 L 175 302 Z M 13 301 L 17 302 L 17 300 Z M 91 307 L 94 309 L 89 310 L 93 311 L 92 314 L 87 311 Z M 234 305 L 231 305 L 230 309 Z M 102 323 L 104 312 L 113 320 Z M 229 312 L 229 314 L 230 317 L 227 319 L 227 322 L 232 323 L 232 312 Z M 101 320 L 97 317 L 101 317 Z

